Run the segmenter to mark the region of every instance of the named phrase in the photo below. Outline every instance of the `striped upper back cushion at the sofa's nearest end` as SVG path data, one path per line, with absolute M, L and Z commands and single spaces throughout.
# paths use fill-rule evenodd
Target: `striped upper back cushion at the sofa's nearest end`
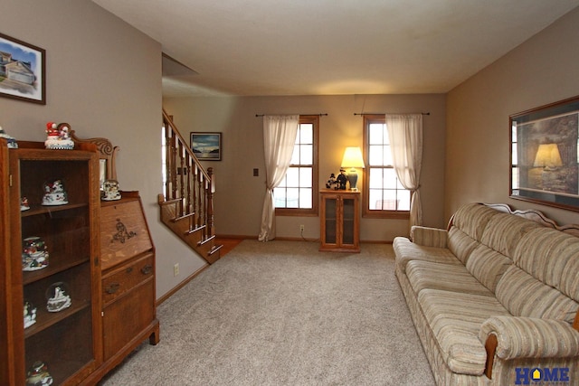
M 534 278 L 579 301 L 579 238 L 553 229 L 529 231 L 513 260 Z

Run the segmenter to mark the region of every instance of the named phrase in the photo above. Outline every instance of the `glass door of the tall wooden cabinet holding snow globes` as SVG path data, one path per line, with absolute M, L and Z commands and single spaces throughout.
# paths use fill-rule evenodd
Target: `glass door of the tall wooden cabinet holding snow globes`
M 60 159 L 61 151 L 50 152 L 43 157 L 39 154 L 46 152 L 17 149 L 17 157 L 11 157 L 11 171 L 18 175 L 11 206 L 13 211 L 20 207 L 20 235 L 13 239 L 21 240 L 12 254 L 19 267 L 22 263 L 14 272 L 20 269 L 20 309 L 24 306 L 24 369 L 18 370 L 24 374 L 16 377 L 30 383 L 52 378 L 52 384 L 61 384 L 95 365 L 94 160 L 87 152 L 79 159 Z

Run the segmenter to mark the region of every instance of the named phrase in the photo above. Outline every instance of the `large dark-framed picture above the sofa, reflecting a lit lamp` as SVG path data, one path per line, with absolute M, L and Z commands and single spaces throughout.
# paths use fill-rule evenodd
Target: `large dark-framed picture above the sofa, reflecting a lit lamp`
M 579 212 L 579 96 L 509 117 L 510 198 Z

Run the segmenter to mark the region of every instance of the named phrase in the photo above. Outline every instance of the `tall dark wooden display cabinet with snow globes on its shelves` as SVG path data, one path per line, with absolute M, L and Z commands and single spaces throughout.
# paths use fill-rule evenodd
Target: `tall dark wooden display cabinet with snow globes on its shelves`
M 99 269 L 99 156 L 95 146 L 46 150 L 43 143 L 0 140 L 3 254 L 0 284 L 0 383 L 24 385 L 35 362 L 48 366 L 53 383 L 78 384 L 102 362 Z M 68 203 L 43 205 L 43 184 L 60 179 Z M 30 209 L 21 211 L 21 198 Z M 6 213 L 6 212 L 5 212 Z M 48 265 L 23 270 L 23 240 L 39 237 Z M 67 290 L 71 306 L 47 310 L 49 288 Z M 24 328 L 24 301 L 36 308 Z

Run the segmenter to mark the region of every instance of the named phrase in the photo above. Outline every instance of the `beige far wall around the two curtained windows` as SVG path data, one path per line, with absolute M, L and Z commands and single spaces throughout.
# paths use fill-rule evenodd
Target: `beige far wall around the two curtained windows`
M 257 237 L 265 193 L 262 118 L 256 114 L 318 114 L 319 184 L 338 173 L 346 146 L 363 145 L 365 112 L 431 112 L 424 117 L 424 162 L 422 198 L 424 223 L 444 226 L 442 202 L 444 181 L 445 96 L 356 95 L 307 97 L 239 97 L 164 99 L 185 137 L 191 131 L 223 132 L 223 160 L 205 162 L 216 178 L 215 226 L 218 234 Z M 253 168 L 260 176 L 253 177 Z M 361 181 L 364 185 L 364 181 Z M 299 238 L 299 224 L 307 239 L 319 238 L 318 217 L 277 217 L 277 236 Z M 363 219 L 361 240 L 393 240 L 408 233 L 408 221 Z

